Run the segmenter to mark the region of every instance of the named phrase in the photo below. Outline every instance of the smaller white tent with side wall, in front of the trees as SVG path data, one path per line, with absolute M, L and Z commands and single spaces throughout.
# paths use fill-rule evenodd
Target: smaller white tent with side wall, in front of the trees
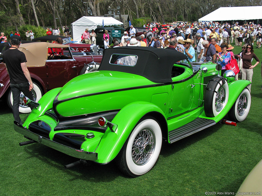
M 97 25 L 102 26 L 103 24 L 104 26 L 123 25 L 122 22 L 112 17 L 83 16 L 72 23 L 74 41 L 81 41 L 82 33 L 86 28 L 92 30 L 97 28 Z

